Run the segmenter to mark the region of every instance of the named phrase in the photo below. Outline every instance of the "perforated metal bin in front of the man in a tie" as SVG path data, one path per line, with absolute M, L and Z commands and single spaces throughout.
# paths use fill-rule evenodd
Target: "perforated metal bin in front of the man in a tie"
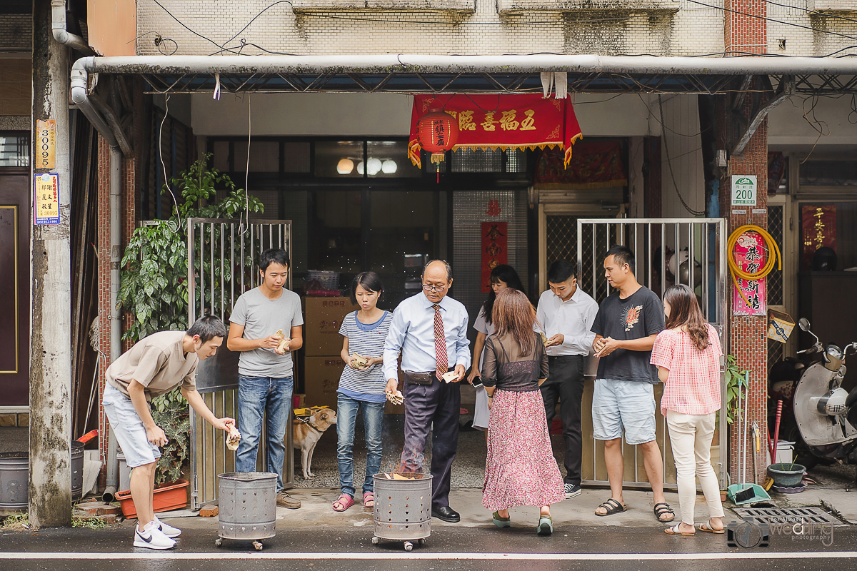
M 405 550 L 413 549 L 413 541 L 420 544 L 431 535 L 431 480 L 430 474 L 399 473 L 411 479 L 387 479 L 383 473 L 375 474 L 375 536 L 373 544 L 381 539 L 404 541 Z

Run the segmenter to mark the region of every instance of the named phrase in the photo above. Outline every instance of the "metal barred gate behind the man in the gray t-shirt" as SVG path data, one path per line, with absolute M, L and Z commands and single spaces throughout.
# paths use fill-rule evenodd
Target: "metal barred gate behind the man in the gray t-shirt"
M 261 282 L 259 254 L 281 247 L 291 256 L 291 221 L 189 218 L 188 220 L 188 323 L 203 315 L 216 315 L 229 328 L 229 316 L 238 297 Z M 291 266 L 286 286 L 291 288 Z M 181 286 L 179 286 L 181 288 Z M 201 360 L 196 388 L 218 417 L 237 417 L 238 354 L 226 348 Z M 238 427 L 241 428 L 240 426 Z M 261 434 L 265 434 L 262 426 Z M 286 430 L 283 479 L 293 485 L 294 458 L 291 430 Z M 265 438 L 260 438 L 257 469 L 265 464 Z M 226 448 L 223 431 L 190 410 L 191 506 L 200 509 L 217 499 L 217 475 L 235 471 L 235 453 Z

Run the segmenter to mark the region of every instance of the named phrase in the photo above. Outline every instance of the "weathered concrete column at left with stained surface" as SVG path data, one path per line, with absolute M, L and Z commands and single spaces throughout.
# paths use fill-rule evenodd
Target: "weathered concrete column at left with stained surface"
M 29 518 L 39 527 L 71 526 L 71 271 L 69 214 L 69 54 L 51 33 L 50 0 L 33 1 L 33 140 L 35 122 L 57 122 L 60 223 L 33 225 L 30 266 Z M 31 217 L 31 221 L 32 221 Z M 31 222 L 32 223 L 32 222 Z

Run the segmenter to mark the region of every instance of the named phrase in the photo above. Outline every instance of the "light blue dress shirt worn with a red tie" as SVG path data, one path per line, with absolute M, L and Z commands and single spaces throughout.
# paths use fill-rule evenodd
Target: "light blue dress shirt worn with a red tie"
M 393 323 L 384 344 L 384 378 L 399 378 L 396 366 L 402 354 L 402 371 L 428 372 L 437 367 L 434 354 L 434 303 L 420 292 L 402 301 L 393 312 Z M 446 359 L 449 366 L 470 365 L 467 340 L 467 310 L 445 295 L 440 300 L 440 315 L 446 334 Z

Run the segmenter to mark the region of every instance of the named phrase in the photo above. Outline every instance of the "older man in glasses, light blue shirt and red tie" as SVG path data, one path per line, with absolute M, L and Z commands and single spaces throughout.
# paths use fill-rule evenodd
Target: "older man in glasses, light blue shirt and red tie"
M 458 513 L 449 507 L 452 461 L 458 449 L 458 383 L 470 363 L 467 310 L 447 297 L 452 268 L 443 260 L 428 262 L 423 270 L 423 293 L 402 301 L 393 312 L 393 323 L 384 345 L 387 392 L 396 390 L 399 353 L 405 372 L 405 447 L 401 469 L 423 471 L 423 450 L 428 430 L 432 435 L 432 516 L 452 523 Z M 442 376 L 453 371 L 448 382 Z

